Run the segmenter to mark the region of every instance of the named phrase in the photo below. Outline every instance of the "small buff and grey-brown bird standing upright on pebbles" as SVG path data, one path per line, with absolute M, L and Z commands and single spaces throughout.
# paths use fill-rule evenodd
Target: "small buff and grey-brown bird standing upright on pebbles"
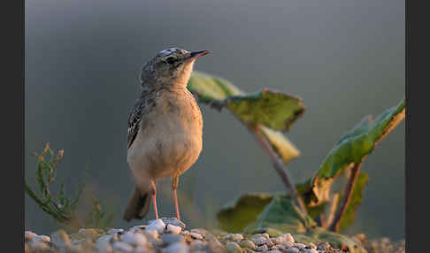
M 168 176 L 180 220 L 179 177 L 200 156 L 203 132 L 202 112 L 187 83 L 196 59 L 209 53 L 174 47 L 159 51 L 142 66 L 141 95 L 128 116 L 127 163 L 135 185 L 123 216 L 127 221 L 143 219 L 150 200 L 158 219 L 156 184 Z

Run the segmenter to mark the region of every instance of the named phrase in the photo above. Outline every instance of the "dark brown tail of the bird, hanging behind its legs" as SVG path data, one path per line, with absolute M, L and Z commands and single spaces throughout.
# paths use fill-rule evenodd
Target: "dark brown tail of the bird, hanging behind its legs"
M 143 219 L 150 211 L 150 192 L 142 193 L 134 187 L 133 195 L 128 202 L 123 218 L 127 221 L 131 219 Z

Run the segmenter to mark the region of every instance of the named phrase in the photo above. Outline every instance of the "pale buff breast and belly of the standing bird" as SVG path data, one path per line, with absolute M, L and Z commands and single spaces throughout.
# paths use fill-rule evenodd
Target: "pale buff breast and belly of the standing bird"
M 202 150 L 203 120 L 196 102 L 161 102 L 147 116 L 127 152 L 134 176 L 159 180 L 187 171 Z

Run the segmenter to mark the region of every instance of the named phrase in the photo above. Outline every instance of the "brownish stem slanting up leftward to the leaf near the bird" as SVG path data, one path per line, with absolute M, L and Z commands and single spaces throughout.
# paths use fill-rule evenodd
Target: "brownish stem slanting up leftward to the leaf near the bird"
M 250 133 L 253 134 L 257 142 L 262 146 L 263 149 L 267 152 L 269 157 L 272 160 L 272 165 L 275 171 L 280 175 L 280 180 L 282 180 L 282 183 L 284 184 L 285 188 L 289 189 L 291 196 L 293 199 L 295 199 L 296 203 L 302 209 L 303 213 L 307 214 L 306 206 L 303 203 L 302 197 L 297 193 L 296 190 L 296 184 L 291 180 L 291 178 L 288 176 L 288 173 L 284 169 L 284 162 L 280 159 L 280 157 L 276 154 L 276 152 L 273 150 L 272 145 L 267 142 L 267 139 L 263 134 L 261 134 L 261 128 L 259 126 L 255 126 L 254 128 L 249 128 Z

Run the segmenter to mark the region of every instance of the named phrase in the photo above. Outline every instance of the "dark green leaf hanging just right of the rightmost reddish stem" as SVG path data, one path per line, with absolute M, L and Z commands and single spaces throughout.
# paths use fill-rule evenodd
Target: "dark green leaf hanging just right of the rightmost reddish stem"
M 349 226 L 354 221 L 354 219 L 356 219 L 356 211 L 360 206 L 361 202 L 363 201 L 363 196 L 365 195 L 365 184 L 367 183 L 368 179 L 369 177 L 367 173 L 358 174 L 356 184 L 352 189 L 351 200 L 345 211 L 345 214 L 341 219 L 341 224 L 340 224 L 341 231 L 342 229 Z

